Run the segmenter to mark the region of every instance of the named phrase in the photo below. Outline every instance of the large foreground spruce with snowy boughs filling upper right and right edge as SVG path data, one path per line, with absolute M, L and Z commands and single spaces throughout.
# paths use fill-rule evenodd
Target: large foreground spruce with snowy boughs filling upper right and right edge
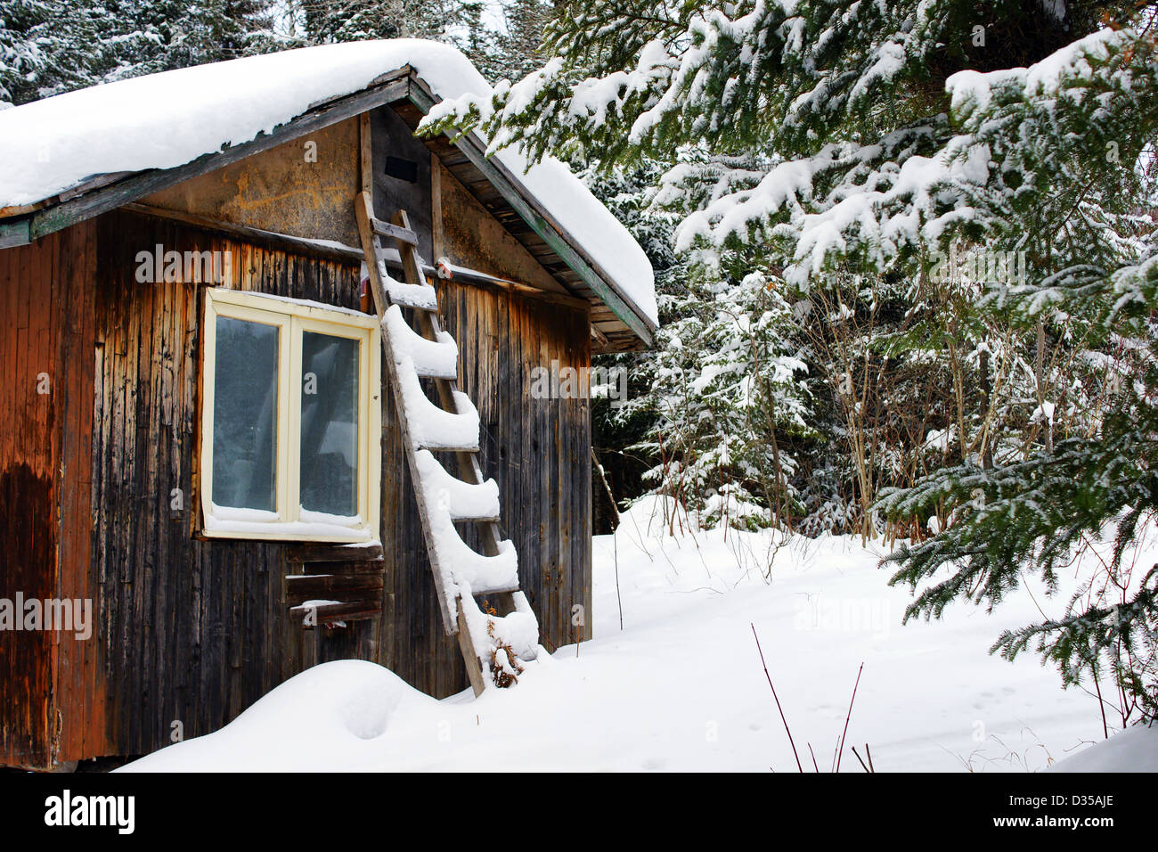
M 987 298 L 935 305 L 960 348 L 977 318 L 992 328 L 958 358 L 976 362 L 979 386 L 967 418 L 965 372 L 954 377 L 958 464 L 947 456 L 878 504 L 948 522 L 897 551 L 893 582 L 919 589 L 910 618 L 958 598 L 994 605 L 1023 570 L 1053 584 L 1116 522 L 1105 576 L 1063 618 L 995 648 L 1033 645 L 1068 682 L 1108 661 L 1123 704 L 1152 701 L 1137 655 L 1153 647 L 1158 580 L 1126 559 L 1158 508 L 1146 322 L 1158 261 L 1142 181 L 1158 121 L 1152 28 L 1151 7 L 1113 2 L 569 3 L 550 61 L 492 99 L 444 104 L 430 126 L 479 125 L 493 147 L 608 167 L 683 146 L 767 156 L 757 177 L 686 195 L 677 247 L 705 264 L 731 253 L 776 267 L 804 296 L 826 277 L 875 276 L 928 299 L 946 253 L 1024 252 L 1024 278 L 966 276 Z M 1038 402 L 1025 417 L 1018 370 Z

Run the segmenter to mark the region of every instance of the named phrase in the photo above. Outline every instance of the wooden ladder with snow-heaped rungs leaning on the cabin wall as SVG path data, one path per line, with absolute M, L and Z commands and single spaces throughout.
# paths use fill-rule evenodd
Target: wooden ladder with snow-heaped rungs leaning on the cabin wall
M 522 671 L 519 661 L 542 653 L 538 621 L 519 588 L 514 545 L 499 532 L 498 485 L 483 479 L 478 464 L 478 413 L 457 388 L 457 344 L 439 323 L 438 293 L 423 275 L 418 238 L 404 210 L 393 223 L 376 218 L 369 192 L 360 192 L 354 207 L 442 624 L 448 635 L 457 634 L 478 696 L 490 684 L 515 683 Z M 380 238 L 397 247 L 403 282 L 388 274 Z M 423 379 L 434 384 L 439 405 L 426 396 Z M 432 451 L 453 452 L 460 478 L 448 473 Z M 466 523 L 477 526 L 482 554 L 454 526 Z M 484 600 L 483 606 L 477 599 Z

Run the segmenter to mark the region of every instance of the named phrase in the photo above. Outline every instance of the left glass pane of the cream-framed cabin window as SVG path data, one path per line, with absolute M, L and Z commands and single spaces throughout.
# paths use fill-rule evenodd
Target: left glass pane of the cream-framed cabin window
M 278 327 L 217 318 L 213 502 L 277 511 Z

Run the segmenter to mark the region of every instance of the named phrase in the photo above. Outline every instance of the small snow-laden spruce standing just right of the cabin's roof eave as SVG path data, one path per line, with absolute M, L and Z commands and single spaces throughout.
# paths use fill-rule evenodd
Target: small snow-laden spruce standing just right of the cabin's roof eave
M 647 479 L 706 524 L 791 529 L 796 449 L 811 437 L 792 308 L 761 272 L 686 285 L 657 350 Z

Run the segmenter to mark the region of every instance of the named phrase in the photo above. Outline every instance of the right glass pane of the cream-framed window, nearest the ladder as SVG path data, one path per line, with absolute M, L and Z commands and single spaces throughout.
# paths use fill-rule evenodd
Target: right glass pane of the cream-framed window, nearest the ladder
M 303 332 L 301 508 L 358 514 L 358 341 Z

